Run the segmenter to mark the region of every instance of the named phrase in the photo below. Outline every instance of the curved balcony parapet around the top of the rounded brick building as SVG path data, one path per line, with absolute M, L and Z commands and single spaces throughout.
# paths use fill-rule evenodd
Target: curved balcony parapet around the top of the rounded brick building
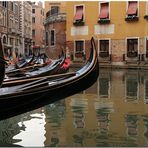
M 66 13 L 54 13 L 48 15 L 48 17 L 44 21 L 44 25 L 52 24 L 55 22 L 63 22 L 63 21 L 66 21 Z

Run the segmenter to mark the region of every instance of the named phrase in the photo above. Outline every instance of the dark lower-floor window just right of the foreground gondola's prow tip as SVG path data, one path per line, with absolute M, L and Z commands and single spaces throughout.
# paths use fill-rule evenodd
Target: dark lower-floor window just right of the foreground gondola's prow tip
M 109 40 L 100 40 L 99 41 L 99 56 L 100 57 L 109 57 Z

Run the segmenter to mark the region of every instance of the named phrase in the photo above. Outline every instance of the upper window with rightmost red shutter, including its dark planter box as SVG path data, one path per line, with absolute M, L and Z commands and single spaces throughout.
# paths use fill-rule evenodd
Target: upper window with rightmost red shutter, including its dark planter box
M 126 21 L 128 20 L 138 20 L 138 2 L 129 1 L 126 12 Z

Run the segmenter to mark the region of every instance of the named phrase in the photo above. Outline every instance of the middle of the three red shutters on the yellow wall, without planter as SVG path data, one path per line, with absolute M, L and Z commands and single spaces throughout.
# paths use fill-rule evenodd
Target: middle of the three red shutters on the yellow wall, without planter
M 100 15 L 99 15 L 99 19 L 106 19 L 108 18 L 109 15 L 109 5 L 108 3 L 102 3 L 100 8 Z

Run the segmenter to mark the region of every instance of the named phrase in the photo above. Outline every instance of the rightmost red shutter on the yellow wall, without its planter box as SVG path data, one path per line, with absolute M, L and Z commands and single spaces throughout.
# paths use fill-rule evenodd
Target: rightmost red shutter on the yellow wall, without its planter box
M 127 15 L 134 15 L 137 13 L 137 2 L 130 1 L 128 5 Z

